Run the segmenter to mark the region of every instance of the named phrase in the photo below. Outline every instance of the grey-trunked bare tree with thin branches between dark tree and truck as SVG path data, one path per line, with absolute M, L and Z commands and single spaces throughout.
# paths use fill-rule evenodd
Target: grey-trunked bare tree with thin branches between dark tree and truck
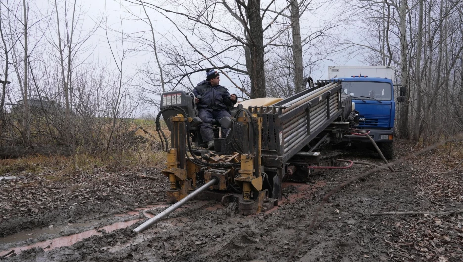
M 271 89 L 284 90 L 283 93 L 290 96 L 301 91 L 303 78 L 310 76 L 314 67 L 318 67 L 328 54 L 336 53 L 336 46 L 331 46 L 331 41 L 334 39 L 332 31 L 339 20 L 319 20 L 323 26 L 315 29 L 309 21 L 301 22 L 301 16 L 317 11 L 322 7 L 320 4 L 308 0 L 287 0 L 286 3 L 288 5 L 281 8 L 281 11 L 270 8 L 262 11 L 279 14 L 284 18 L 274 23 L 274 31 L 279 33 L 278 39 L 269 44 L 271 48 L 268 50 L 268 64 L 274 65 L 268 66 L 267 74 L 272 76 L 267 76 L 266 79 Z M 301 33 L 301 23 L 308 27 L 307 32 Z M 292 78 L 292 81 L 288 82 L 287 77 Z

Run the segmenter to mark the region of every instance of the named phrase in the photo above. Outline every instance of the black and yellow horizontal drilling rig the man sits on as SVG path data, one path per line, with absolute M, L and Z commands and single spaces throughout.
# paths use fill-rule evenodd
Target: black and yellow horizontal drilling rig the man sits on
M 307 179 L 314 172 L 310 167 L 321 165 L 321 154 L 314 151 L 339 143 L 358 124 L 341 81 L 318 81 L 269 106 L 257 104 L 262 103 L 258 99 L 246 102 L 253 100 L 252 106 L 233 108 L 233 117 L 214 122 L 219 138 L 214 140 L 215 150 L 209 151 L 193 146 L 202 143 L 194 97 L 183 91 L 162 95 L 156 125 L 167 151 L 162 173 L 170 181 L 168 203 L 182 205 L 204 191 L 209 199 L 237 200 L 243 215 L 270 210 L 282 200 L 285 174 L 298 169 L 304 172 L 301 180 Z M 171 132 L 171 147 L 162 133 L 161 114 Z M 221 128 L 230 128 L 226 137 L 220 136 Z

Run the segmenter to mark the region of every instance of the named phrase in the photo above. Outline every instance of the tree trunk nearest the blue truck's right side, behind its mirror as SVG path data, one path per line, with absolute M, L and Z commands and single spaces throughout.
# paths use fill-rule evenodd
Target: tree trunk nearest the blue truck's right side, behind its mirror
M 401 0 L 399 6 L 399 37 L 400 37 L 400 61 L 401 61 L 401 84 L 407 86 L 408 67 L 407 67 L 407 35 L 406 35 L 406 19 L 407 19 L 407 1 Z M 405 102 L 400 105 L 400 121 L 399 133 L 402 138 L 409 139 L 409 100 L 410 92 L 405 96 Z

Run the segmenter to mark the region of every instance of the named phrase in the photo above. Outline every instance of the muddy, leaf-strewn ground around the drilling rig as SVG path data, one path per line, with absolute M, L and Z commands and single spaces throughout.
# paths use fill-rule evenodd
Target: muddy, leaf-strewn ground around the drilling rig
M 418 150 L 403 143 L 395 145 L 396 159 Z M 51 168 L 12 169 L 6 175 L 25 179 L 0 182 L 0 257 L 14 249 L 7 261 L 287 261 L 291 254 L 303 262 L 462 261 L 463 213 L 372 215 L 462 209 L 463 168 L 453 169 L 459 159 L 446 150 L 412 155 L 395 173 L 374 172 L 334 194 L 299 250 L 323 196 L 372 167 L 355 164 L 308 184 L 288 183 L 278 208 L 252 216 L 238 215 L 233 203 L 196 200 L 140 234 L 132 230 L 165 208 L 162 167 L 59 176 Z M 343 158 L 381 164 L 364 150 Z M 93 236 L 66 246 L 81 232 Z M 58 242 L 64 246 L 53 248 Z

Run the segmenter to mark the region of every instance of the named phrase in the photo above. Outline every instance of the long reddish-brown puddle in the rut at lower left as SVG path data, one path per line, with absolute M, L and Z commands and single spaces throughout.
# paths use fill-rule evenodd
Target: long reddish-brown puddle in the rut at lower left
M 12 249 L 0 252 L 0 256 L 3 256 L 5 254 L 9 253 L 11 250 L 15 250 L 15 253 L 19 254 L 19 253 L 21 253 L 21 251 L 24 251 L 24 250 L 27 250 L 27 249 L 30 249 L 30 248 L 35 248 L 35 247 L 41 247 L 41 248 L 44 249 L 44 251 L 50 251 L 53 248 L 71 246 L 74 243 L 76 243 L 78 241 L 81 241 L 83 239 L 89 238 L 91 236 L 94 236 L 94 235 L 100 236 L 100 235 L 102 235 L 102 233 L 98 232 L 98 231 L 106 230 L 106 232 L 109 233 L 109 232 L 112 232 L 112 231 L 117 230 L 117 229 L 126 228 L 126 227 L 128 227 L 130 225 L 133 225 L 133 224 L 137 223 L 140 220 L 142 220 L 142 219 L 130 220 L 130 221 L 127 221 L 127 222 L 117 222 L 117 223 L 114 223 L 112 225 L 101 227 L 98 230 L 84 231 L 84 232 L 79 233 L 79 234 L 74 234 L 74 235 L 65 236 L 65 237 L 58 237 L 58 238 L 55 238 L 55 239 L 38 242 L 38 243 L 29 245 L 29 246 L 12 248 Z

